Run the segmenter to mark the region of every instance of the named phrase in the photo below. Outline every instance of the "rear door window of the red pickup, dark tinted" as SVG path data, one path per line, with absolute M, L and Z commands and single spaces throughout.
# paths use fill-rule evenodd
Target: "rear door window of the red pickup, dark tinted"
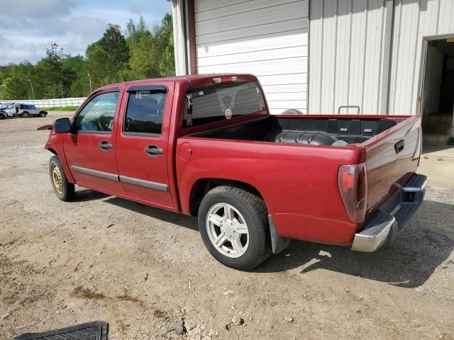
M 165 91 L 129 91 L 124 132 L 160 135 L 164 117 Z

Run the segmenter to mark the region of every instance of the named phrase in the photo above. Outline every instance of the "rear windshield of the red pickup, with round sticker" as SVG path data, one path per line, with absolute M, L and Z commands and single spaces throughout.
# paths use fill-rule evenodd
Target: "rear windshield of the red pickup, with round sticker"
M 213 123 L 264 110 L 262 92 L 253 81 L 207 86 L 187 94 L 183 127 Z

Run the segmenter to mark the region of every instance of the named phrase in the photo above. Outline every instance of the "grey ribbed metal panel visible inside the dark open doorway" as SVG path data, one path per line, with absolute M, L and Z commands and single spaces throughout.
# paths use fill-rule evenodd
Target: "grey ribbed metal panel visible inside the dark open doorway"
M 432 46 L 427 49 L 426 75 L 424 76 L 424 91 L 426 104 L 424 113 L 438 112 L 440 104 L 441 79 L 445 55 Z

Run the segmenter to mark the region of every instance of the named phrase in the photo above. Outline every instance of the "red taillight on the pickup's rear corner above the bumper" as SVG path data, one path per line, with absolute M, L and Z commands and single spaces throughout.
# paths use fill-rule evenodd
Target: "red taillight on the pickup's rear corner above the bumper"
M 342 165 L 338 172 L 339 193 L 345 210 L 356 223 L 364 221 L 367 207 L 367 175 L 365 163 Z

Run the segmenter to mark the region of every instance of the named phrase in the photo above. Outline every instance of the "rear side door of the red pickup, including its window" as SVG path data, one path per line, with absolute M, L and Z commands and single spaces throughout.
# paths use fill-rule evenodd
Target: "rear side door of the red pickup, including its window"
M 174 206 L 169 190 L 167 149 L 173 82 L 126 88 L 116 161 L 126 194 L 162 208 Z

